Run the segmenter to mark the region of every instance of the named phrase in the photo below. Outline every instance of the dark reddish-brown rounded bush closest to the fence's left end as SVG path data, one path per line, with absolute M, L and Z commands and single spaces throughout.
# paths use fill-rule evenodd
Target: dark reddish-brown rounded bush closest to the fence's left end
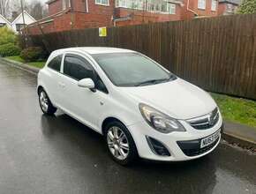
M 45 52 L 40 47 L 29 47 L 21 51 L 20 57 L 26 62 L 35 62 L 45 57 Z

